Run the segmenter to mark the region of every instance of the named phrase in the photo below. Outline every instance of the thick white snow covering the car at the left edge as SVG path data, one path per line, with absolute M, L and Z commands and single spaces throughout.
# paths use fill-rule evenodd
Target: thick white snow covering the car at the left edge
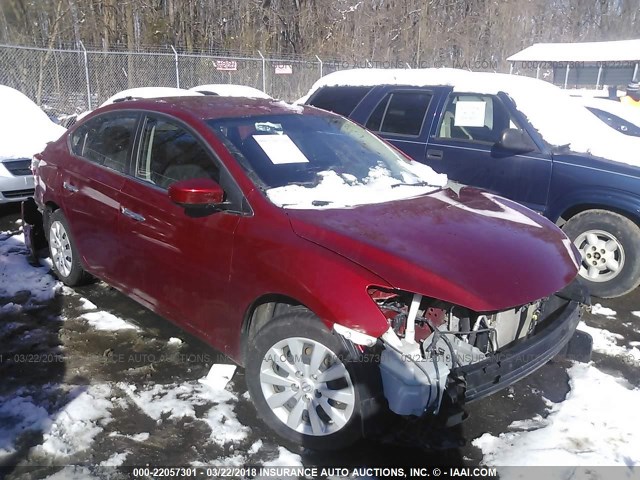
M 0 160 L 31 158 L 66 130 L 56 125 L 29 97 L 0 85 Z

